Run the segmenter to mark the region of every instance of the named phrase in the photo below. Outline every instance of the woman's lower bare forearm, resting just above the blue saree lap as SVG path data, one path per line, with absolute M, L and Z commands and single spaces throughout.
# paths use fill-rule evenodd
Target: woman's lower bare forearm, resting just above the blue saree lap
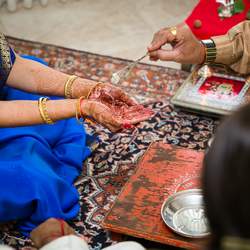
M 46 108 L 53 121 L 74 117 L 76 99 L 49 100 Z M 27 126 L 44 123 L 37 101 L 0 101 L 0 127 Z

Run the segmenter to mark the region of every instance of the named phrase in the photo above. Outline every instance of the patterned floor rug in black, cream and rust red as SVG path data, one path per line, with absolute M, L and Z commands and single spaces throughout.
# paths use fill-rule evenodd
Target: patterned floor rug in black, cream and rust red
M 43 58 L 57 70 L 97 81 L 109 81 L 112 72 L 129 63 L 127 60 L 37 42 L 14 38 L 9 38 L 9 42 L 17 53 Z M 100 223 L 152 141 L 197 150 L 206 148 L 218 122 L 180 112 L 169 104 L 170 97 L 186 77 L 187 73 L 180 70 L 139 64 L 121 87 L 136 100 L 151 107 L 155 111 L 154 117 L 132 132 L 124 130 L 116 134 L 99 125 L 85 125 L 90 133 L 99 136 L 101 143 L 84 163 L 83 173 L 76 181 L 81 212 L 71 225 L 84 236 L 91 249 L 112 244 L 109 233 L 100 227 Z M 1 241 L 15 249 L 31 249 L 31 242 L 20 237 L 15 228 L 2 230 Z

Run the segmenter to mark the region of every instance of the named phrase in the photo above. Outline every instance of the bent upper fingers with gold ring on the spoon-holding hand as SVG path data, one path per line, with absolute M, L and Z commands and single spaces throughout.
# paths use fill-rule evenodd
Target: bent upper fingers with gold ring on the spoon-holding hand
M 148 51 L 158 50 L 166 43 L 172 43 L 175 39 L 176 36 L 169 29 L 162 29 L 154 35 L 151 44 L 148 46 Z

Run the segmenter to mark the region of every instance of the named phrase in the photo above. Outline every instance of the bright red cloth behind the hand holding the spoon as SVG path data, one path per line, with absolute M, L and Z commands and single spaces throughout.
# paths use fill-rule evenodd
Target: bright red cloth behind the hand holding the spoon
M 216 0 L 200 0 L 185 22 L 198 39 L 207 39 L 211 36 L 224 35 L 230 28 L 246 20 L 247 12 L 250 10 L 250 1 L 244 0 L 244 3 L 244 12 L 235 14 L 229 18 L 221 19 L 217 12 L 220 4 L 216 3 Z M 200 28 L 194 27 L 194 22 L 196 20 L 201 21 Z

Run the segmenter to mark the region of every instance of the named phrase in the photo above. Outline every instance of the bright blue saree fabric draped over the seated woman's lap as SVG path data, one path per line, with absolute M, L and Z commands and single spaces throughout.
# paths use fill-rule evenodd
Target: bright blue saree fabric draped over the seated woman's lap
M 40 97 L 8 87 L 2 91 L 5 100 Z M 87 140 L 75 119 L 0 128 L 0 222 L 16 221 L 28 236 L 47 218 L 76 217 L 79 194 L 73 182 L 91 153 Z

